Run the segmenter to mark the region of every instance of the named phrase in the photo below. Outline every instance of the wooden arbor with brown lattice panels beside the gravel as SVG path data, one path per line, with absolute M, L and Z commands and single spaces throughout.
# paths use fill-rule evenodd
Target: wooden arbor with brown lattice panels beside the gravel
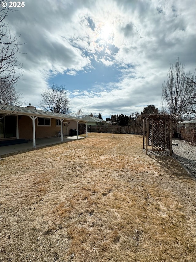
M 146 122 L 146 123 L 145 123 Z M 170 151 L 172 153 L 172 116 L 148 115 L 144 119 L 143 148 L 145 148 L 146 131 L 146 154 L 149 150 Z

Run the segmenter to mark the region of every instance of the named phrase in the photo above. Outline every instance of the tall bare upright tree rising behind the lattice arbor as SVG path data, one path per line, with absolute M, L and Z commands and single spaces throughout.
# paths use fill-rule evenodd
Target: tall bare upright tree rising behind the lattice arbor
M 174 65 L 170 63 L 167 81 L 162 85 L 162 111 L 178 114 L 177 121 L 186 114 L 188 101 L 193 99 L 193 87 L 184 81 L 190 76 L 177 58 Z

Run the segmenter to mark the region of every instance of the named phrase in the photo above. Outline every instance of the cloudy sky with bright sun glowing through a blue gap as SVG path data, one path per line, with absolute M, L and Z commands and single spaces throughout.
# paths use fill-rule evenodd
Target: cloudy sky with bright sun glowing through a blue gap
M 6 18 L 20 36 L 23 77 L 16 89 L 39 108 L 40 93 L 66 85 L 73 111 L 130 115 L 160 107 L 177 57 L 196 67 L 192 0 L 26 0 Z

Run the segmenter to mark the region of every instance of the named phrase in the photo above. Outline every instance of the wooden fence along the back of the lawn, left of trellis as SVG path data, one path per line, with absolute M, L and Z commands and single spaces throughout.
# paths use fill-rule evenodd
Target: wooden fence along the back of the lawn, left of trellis
M 136 134 L 142 135 L 142 127 L 137 126 L 88 126 L 88 132 L 115 133 L 115 134 Z

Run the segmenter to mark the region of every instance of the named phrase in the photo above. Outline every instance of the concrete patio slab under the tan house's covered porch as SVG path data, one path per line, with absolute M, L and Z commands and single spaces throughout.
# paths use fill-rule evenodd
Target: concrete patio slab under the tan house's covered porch
M 78 139 L 83 139 L 85 136 L 78 136 Z M 38 138 L 36 139 L 36 148 L 46 147 L 49 145 L 55 145 L 59 143 L 66 143 L 69 141 L 77 140 L 77 136 L 66 136 L 63 137 L 63 142 L 61 142 L 61 137 L 52 137 L 52 138 Z M 10 153 L 16 153 L 24 150 L 32 150 L 33 149 L 33 141 L 28 143 L 9 145 L 0 147 L 0 156 Z

